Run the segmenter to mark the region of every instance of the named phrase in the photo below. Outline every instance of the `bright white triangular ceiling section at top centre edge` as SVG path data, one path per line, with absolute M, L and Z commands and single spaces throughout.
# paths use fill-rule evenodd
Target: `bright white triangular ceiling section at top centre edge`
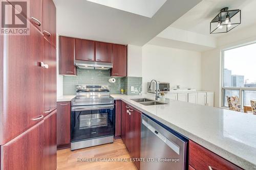
M 152 17 L 166 0 L 87 0 L 104 6 L 120 9 L 134 14 Z

